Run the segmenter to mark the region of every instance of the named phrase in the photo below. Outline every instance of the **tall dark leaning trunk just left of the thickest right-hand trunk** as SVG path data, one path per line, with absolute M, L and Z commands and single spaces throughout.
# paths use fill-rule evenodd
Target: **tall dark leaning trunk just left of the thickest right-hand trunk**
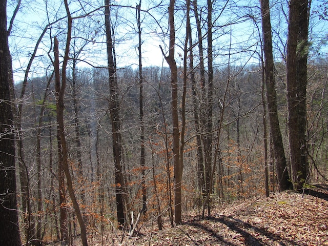
M 270 120 L 270 132 L 273 142 L 276 171 L 278 176 L 278 190 L 284 191 L 291 187 L 283 149 L 282 136 L 279 126 L 277 93 L 275 89 L 274 63 L 272 54 L 272 34 L 270 20 L 269 0 L 261 1 L 262 35 L 264 49 L 265 86 L 267 87 L 268 111 Z

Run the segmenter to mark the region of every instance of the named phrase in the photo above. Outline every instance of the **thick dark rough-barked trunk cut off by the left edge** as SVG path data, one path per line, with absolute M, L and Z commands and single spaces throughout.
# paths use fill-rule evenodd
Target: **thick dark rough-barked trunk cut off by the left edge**
M 16 202 L 7 36 L 7 1 L 0 3 L 0 245 L 20 246 Z

